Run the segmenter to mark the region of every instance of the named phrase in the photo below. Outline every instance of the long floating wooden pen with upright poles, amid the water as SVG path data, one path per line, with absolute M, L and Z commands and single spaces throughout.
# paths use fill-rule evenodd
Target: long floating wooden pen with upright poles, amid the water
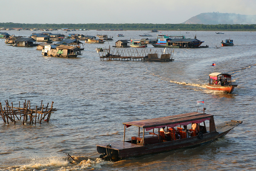
M 159 49 L 158 49 L 159 50 Z M 160 49 L 160 54 L 157 50 L 152 49 L 139 49 L 137 48 L 104 48 L 99 53 L 100 60 L 135 60 L 135 61 L 152 61 L 152 62 L 169 62 L 173 61 L 174 49 L 165 48 L 163 51 Z M 159 57 L 160 56 L 160 57 Z

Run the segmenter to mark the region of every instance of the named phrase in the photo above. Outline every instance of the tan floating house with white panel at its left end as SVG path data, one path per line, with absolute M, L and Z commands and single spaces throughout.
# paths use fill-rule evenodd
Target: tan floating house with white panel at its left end
M 42 55 L 50 57 L 77 57 L 81 54 L 81 49 L 76 46 L 60 45 L 52 48 L 51 45 L 44 46 Z

